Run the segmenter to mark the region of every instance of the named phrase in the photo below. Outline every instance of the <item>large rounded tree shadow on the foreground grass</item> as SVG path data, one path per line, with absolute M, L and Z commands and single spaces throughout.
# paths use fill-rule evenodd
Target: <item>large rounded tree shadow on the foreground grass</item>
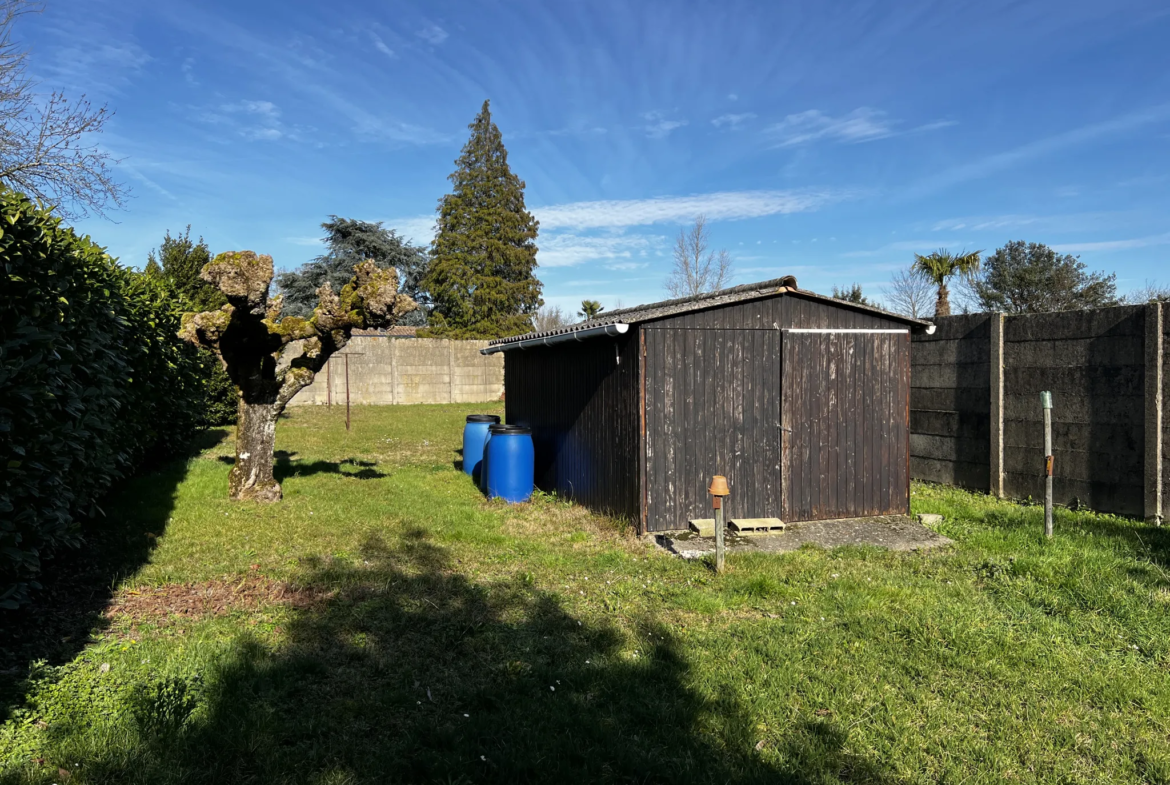
M 653 619 L 629 640 L 523 579 L 476 583 L 422 530 L 297 595 L 285 643 L 238 641 L 183 731 L 82 760 L 87 781 L 890 781 L 828 723 L 760 739 Z

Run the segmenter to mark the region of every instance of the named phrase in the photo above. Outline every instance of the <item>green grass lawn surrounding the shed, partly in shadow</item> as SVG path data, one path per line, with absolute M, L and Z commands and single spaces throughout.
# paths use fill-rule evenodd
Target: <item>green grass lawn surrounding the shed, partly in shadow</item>
M 276 505 L 226 433 L 130 482 L 7 632 L 0 781 L 1170 783 L 1165 530 L 916 486 L 955 546 L 717 577 L 484 501 L 491 408 L 294 409 Z

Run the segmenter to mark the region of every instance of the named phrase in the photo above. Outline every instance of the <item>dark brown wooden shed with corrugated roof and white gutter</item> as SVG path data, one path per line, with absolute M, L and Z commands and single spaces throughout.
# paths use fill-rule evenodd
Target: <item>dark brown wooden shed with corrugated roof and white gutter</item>
M 710 517 L 716 474 L 732 521 L 908 512 L 911 330 L 932 328 L 787 276 L 483 351 L 504 352 L 537 487 L 645 533 Z

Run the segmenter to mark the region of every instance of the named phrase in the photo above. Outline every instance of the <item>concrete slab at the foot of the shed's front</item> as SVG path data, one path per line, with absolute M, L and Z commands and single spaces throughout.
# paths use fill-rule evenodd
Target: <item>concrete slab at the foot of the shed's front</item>
M 701 559 L 715 553 L 714 538 L 700 537 L 690 531 L 659 535 L 655 543 L 684 559 Z M 751 538 L 739 537 L 729 531 L 725 542 L 729 551 L 770 553 L 794 551 L 808 544 L 827 549 L 842 545 L 873 545 L 890 551 L 916 551 L 951 543 L 952 540 L 904 515 L 790 523 L 784 533 Z

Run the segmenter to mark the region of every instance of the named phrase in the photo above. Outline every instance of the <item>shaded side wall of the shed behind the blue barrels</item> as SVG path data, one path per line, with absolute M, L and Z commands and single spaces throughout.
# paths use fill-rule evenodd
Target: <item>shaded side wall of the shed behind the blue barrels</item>
M 631 331 L 505 354 L 505 416 L 532 428 L 537 488 L 638 517 L 639 353 Z

